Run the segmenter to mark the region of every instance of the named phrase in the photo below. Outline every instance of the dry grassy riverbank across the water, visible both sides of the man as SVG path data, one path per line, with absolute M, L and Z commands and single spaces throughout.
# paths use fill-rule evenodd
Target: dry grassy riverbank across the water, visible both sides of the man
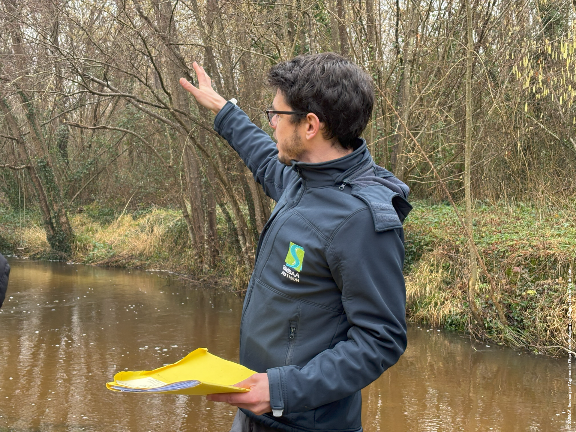
M 498 320 L 488 280 L 479 272 L 476 305 L 482 322 L 471 319 L 467 295 L 468 249 L 450 206 L 414 201 L 405 222 L 407 317 L 431 327 L 468 332 L 477 338 L 549 355 L 565 355 L 567 273 L 574 267 L 573 209 L 475 206 L 475 241 L 495 281 L 494 300 L 506 313 Z M 98 206 L 70 214 L 76 238 L 75 263 L 161 269 L 191 281 L 218 281 L 241 290 L 243 274 L 234 253 L 222 249 L 217 264 L 200 268 L 188 247 L 179 211 L 149 209 L 114 214 Z M 218 217 L 219 229 L 226 229 Z M 0 251 L 49 259 L 50 247 L 38 215 L 0 208 Z M 573 317 L 574 319 L 574 317 Z

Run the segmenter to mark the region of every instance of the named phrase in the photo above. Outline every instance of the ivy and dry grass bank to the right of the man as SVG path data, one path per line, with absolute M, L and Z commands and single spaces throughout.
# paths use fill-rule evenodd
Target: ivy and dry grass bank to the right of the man
M 471 316 L 469 255 L 452 207 L 426 201 L 413 205 L 405 222 L 407 314 L 412 320 L 516 348 L 566 354 L 558 346 L 567 340 L 567 273 L 574 266 L 576 237 L 573 209 L 476 202 L 474 240 L 495 281 L 497 301 L 506 310 L 508 325 L 502 325 L 482 273 L 475 301 L 483 322 Z

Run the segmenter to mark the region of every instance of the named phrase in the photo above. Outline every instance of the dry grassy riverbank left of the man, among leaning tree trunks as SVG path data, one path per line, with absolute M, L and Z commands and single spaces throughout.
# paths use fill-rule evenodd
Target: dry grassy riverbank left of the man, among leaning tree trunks
M 154 208 L 136 213 L 119 212 L 96 205 L 84 206 L 81 213 L 69 214 L 75 233 L 74 263 L 176 272 L 191 281 L 215 281 L 241 289 L 245 281 L 229 245 L 221 244 L 220 260 L 214 268 L 200 268 L 188 242 L 186 223 L 180 211 Z M 222 237 L 226 222 L 218 217 Z M 40 215 L 14 213 L 0 207 L 0 252 L 33 259 L 55 259 L 46 241 Z M 240 276 L 240 277 L 236 277 Z M 243 277 L 242 277 L 243 276 Z

